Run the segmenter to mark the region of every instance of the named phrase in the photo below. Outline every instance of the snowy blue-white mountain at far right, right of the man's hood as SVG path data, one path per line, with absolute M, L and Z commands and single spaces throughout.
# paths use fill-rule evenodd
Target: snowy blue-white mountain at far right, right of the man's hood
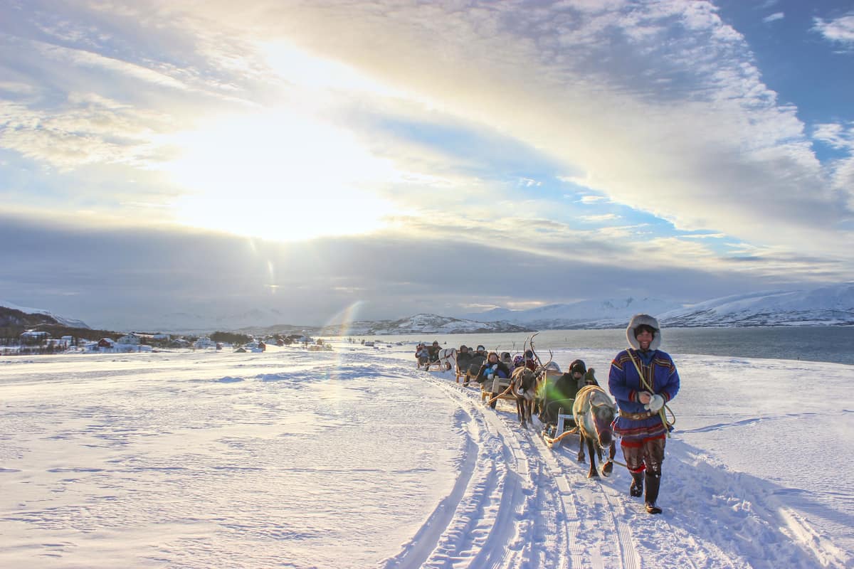
M 656 315 L 663 325 L 852 326 L 854 282 L 812 290 L 769 291 L 712 299 Z

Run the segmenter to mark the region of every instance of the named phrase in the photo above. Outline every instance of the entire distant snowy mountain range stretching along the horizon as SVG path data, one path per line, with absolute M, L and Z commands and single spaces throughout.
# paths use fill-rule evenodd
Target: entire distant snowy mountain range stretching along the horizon
M 40 314 L 78 328 L 84 322 L 56 316 L 50 311 L 22 309 L 0 301 L 0 306 L 24 313 Z M 137 322 L 132 329 L 195 334 L 213 330 L 273 334 L 285 331 L 330 335 L 361 334 L 467 334 L 530 332 L 547 329 L 622 328 L 638 313 L 656 316 L 663 326 L 673 328 L 745 326 L 852 326 L 854 325 L 854 282 L 808 290 L 768 290 L 741 293 L 684 305 L 672 300 L 626 297 L 592 299 L 538 306 L 529 310 L 495 307 L 489 311 L 457 315 L 421 313 L 397 320 L 339 322 L 326 326 L 269 323 L 286 316 L 274 308 L 254 308 L 231 316 L 200 316 L 187 312 L 163 315 L 175 319 L 167 325 Z M 191 321 L 191 322 L 190 322 Z M 265 322 L 266 321 L 266 322 Z M 33 321 L 32 325 L 38 325 Z M 183 326 L 181 325 L 183 322 Z M 336 334 L 336 335 L 337 335 Z

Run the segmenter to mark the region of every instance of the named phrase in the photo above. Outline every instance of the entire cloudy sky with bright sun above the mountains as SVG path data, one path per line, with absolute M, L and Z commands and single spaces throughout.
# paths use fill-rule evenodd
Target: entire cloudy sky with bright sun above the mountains
M 156 328 L 849 282 L 852 92 L 844 2 L 0 0 L 0 298 Z

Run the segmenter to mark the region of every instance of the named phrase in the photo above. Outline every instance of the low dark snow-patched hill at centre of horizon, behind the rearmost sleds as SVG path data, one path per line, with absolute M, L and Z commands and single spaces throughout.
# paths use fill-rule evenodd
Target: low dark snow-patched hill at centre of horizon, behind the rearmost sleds
M 352 322 L 347 328 L 340 325 L 329 326 L 321 330 L 322 334 L 477 334 L 488 332 L 531 332 L 532 329 L 510 322 L 477 322 L 436 316 L 436 314 L 416 314 L 401 320 L 381 320 L 378 322 Z

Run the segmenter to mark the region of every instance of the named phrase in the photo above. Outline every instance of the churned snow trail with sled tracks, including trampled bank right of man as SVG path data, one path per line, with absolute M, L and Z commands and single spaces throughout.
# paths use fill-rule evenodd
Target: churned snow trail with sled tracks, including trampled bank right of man
M 420 555 L 413 548 L 386 567 L 419 566 L 415 558 L 430 548 L 420 543 L 426 534 L 437 539 L 420 566 L 434 568 L 851 566 L 845 552 L 781 507 L 774 496 L 779 492 L 769 493 L 720 466 L 698 468 L 681 454 L 675 457 L 677 442 L 669 445 L 664 467 L 665 513 L 650 516 L 642 498 L 628 496 L 624 467 L 615 466 L 610 478 L 587 479 L 588 465 L 576 461 L 577 438 L 549 449 L 533 427 L 518 426 L 509 402 L 500 401 L 496 412 L 481 402 L 479 390 L 455 383 L 453 374 L 413 376 L 427 378 L 459 403 L 464 411 L 460 428 L 466 429 L 467 448 L 477 452 L 477 460 L 460 473 L 458 485 L 465 484 L 465 491 L 455 490 L 440 505 L 455 508 L 453 515 L 445 512 L 444 530 L 428 527 L 439 523 L 437 517 L 429 520 L 414 540 Z M 619 452 L 617 461 L 623 462 Z M 690 508 L 708 505 L 697 498 L 692 504 L 685 496 L 698 485 L 725 496 L 717 512 L 702 519 Z M 738 501 L 741 509 L 731 503 Z

